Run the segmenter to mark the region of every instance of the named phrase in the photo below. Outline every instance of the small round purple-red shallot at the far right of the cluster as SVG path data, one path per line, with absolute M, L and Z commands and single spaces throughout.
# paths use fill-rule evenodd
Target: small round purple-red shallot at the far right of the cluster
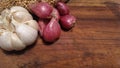
M 60 18 L 60 24 L 66 30 L 71 29 L 74 26 L 75 22 L 76 18 L 72 15 L 65 15 Z

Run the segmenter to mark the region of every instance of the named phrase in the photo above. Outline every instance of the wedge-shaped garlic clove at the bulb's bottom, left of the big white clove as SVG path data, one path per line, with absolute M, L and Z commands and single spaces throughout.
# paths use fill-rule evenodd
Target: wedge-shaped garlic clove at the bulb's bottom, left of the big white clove
M 11 39 L 14 50 L 22 50 L 26 47 L 26 45 L 23 44 L 23 42 L 19 39 L 19 37 L 15 33 L 12 33 Z

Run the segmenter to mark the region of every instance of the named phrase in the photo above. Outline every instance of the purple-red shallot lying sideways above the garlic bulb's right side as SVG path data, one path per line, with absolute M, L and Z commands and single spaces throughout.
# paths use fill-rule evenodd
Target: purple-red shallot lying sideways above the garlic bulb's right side
M 29 8 L 39 18 L 49 17 L 53 10 L 52 6 L 45 2 L 31 4 Z

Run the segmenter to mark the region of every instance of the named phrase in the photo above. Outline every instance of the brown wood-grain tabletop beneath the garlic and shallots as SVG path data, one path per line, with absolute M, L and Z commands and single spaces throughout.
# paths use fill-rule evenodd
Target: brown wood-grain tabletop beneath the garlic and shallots
M 115 2 L 114 2 L 115 1 Z M 19 52 L 0 49 L 0 68 L 120 68 L 119 0 L 71 0 L 75 27 L 47 45 Z

